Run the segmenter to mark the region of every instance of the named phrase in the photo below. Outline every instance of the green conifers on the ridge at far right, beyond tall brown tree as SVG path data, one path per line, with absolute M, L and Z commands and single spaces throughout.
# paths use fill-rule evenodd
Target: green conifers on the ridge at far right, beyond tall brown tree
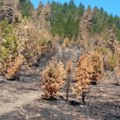
M 100 33 L 105 29 L 115 29 L 115 35 L 117 40 L 120 40 L 120 17 L 108 14 L 103 8 L 94 8 L 94 14 L 91 24 L 91 33 Z

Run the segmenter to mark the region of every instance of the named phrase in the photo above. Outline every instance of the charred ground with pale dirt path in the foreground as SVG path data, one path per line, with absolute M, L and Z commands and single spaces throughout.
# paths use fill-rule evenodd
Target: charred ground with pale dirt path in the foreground
M 0 120 L 120 120 L 120 86 L 90 86 L 86 105 L 41 99 L 39 80 L 0 82 Z

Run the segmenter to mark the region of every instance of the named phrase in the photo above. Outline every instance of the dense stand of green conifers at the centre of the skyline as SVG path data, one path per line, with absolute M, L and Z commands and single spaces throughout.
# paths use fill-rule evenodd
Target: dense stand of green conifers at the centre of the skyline
M 51 32 L 61 37 L 76 39 L 79 34 L 80 18 L 84 13 L 82 4 L 77 7 L 73 0 L 69 3 L 52 2 Z

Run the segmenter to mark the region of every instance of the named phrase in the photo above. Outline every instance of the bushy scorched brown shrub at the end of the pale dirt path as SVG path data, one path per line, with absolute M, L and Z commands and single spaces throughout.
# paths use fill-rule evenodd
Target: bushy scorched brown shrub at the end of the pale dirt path
M 51 61 L 42 72 L 44 99 L 54 99 L 64 85 L 66 72 L 62 62 Z

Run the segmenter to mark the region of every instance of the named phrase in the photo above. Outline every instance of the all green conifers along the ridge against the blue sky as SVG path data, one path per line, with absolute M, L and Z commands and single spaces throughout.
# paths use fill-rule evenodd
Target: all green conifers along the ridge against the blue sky
M 106 29 L 113 29 L 116 38 L 120 40 L 120 17 L 113 16 L 104 11 L 103 8 L 94 7 L 93 9 L 88 6 L 85 9 L 84 5 L 80 3 L 78 6 L 75 5 L 74 0 L 70 0 L 69 3 L 65 2 L 61 4 L 59 2 L 48 2 L 52 9 L 50 18 L 47 18 L 51 22 L 51 32 L 53 35 L 58 34 L 65 38 L 76 39 L 80 35 L 80 21 L 85 11 L 94 11 L 92 15 L 92 21 L 90 26 L 90 33 L 100 34 L 100 32 Z M 39 5 L 43 5 L 42 2 Z M 33 5 L 30 0 L 20 0 L 20 7 L 23 16 L 30 16 Z

